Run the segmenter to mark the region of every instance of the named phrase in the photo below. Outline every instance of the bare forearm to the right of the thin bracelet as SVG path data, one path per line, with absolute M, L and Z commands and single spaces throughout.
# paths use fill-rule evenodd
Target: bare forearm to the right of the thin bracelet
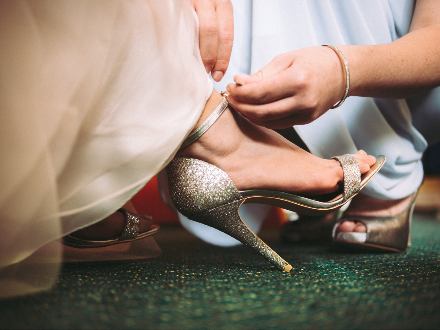
M 350 69 L 348 95 L 407 98 L 440 85 L 438 3 L 420 1 L 410 33 L 392 43 L 338 47 Z

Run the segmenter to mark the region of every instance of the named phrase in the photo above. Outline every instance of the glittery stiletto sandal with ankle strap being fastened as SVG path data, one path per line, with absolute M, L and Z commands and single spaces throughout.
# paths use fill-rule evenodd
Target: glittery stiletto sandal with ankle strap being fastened
M 223 100 L 203 123 L 183 142 L 183 149 L 197 140 L 227 108 Z M 309 215 L 319 215 L 338 209 L 367 184 L 385 162 L 379 156 L 369 172 L 360 176 L 357 161 L 351 155 L 336 157 L 341 162 L 345 180 L 344 192 L 301 197 L 282 191 L 238 191 L 226 172 L 215 165 L 194 158 L 174 158 L 166 167 L 169 193 L 176 206 L 189 219 L 223 231 L 251 247 L 282 271 L 292 266 L 269 248 L 243 223 L 238 208 L 243 203 L 269 204 Z

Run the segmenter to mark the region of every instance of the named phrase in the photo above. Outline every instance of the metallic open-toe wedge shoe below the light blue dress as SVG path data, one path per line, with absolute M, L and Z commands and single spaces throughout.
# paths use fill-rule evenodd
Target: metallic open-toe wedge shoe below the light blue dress
M 395 216 L 342 216 L 334 225 L 333 241 L 337 246 L 371 251 L 404 252 L 410 246 L 410 227 L 417 191 L 411 203 Z M 367 232 L 337 232 L 337 227 L 344 221 L 361 222 Z

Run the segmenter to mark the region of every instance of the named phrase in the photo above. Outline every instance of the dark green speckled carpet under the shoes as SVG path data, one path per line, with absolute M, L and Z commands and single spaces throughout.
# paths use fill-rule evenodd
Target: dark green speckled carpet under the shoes
M 156 235 L 147 260 L 65 264 L 49 292 L 0 301 L 0 327 L 29 329 L 439 329 L 440 222 L 418 214 L 406 253 L 286 246 L 275 270 L 250 249 Z

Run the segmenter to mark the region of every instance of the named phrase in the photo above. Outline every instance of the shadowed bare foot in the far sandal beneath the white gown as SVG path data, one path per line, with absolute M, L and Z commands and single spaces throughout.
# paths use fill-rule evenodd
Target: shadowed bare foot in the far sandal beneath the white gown
M 132 213 L 136 213 L 136 209 L 131 202 L 122 206 Z M 140 221 L 139 232 L 144 232 L 150 229 L 152 220 L 148 216 L 140 216 L 145 221 Z M 73 232 L 71 235 L 81 239 L 102 240 L 106 238 L 118 237 L 124 229 L 125 217 L 121 212 L 115 212 L 107 216 L 105 219 L 92 224 L 88 227 L 84 227 L 80 230 Z

